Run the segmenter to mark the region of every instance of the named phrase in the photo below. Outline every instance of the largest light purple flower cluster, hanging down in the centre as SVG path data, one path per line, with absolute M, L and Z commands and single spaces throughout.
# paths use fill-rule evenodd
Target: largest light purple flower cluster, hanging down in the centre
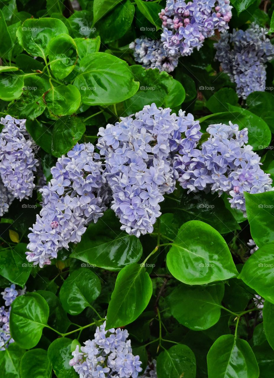
M 179 117 L 170 113 L 170 108 L 146 105 L 135 119 L 131 115 L 99 129 L 97 147 L 105 157 L 111 208 L 120 218 L 121 229 L 137 237 L 153 232 L 163 195 L 174 191 L 173 155 L 197 138 L 191 115 L 185 117 L 181 110 Z

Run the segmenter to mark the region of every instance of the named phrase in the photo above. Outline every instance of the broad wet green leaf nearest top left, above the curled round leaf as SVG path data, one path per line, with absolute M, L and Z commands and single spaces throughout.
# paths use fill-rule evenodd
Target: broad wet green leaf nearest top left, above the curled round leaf
M 65 24 L 58 19 L 28 19 L 17 29 L 20 45 L 32 56 L 46 60 L 48 43 L 59 34 L 68 34 Z

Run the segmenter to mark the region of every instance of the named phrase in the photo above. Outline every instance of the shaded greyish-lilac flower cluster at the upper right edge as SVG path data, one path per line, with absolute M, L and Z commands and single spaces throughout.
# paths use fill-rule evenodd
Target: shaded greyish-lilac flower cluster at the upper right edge
M 266 35 L 265 29 L 252 23 L 246 31 L 223 33 L 215 43 L 215 59 L 236 83 L 238 96 L 244 99 L 254 91 L 265 91 L 265 64 L 274 58 L 274 46 Z

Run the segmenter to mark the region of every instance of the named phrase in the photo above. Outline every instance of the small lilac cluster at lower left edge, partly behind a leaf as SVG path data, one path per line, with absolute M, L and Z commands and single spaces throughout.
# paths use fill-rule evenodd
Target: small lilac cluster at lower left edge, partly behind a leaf
M 14 283 L 11 287 L 6 287 L 5 290 L 1 293 L 5 301 L 5 306 L 0 307 L 0 350 L 5 350 L 8 348 L 9 344 L 14 342 L 14 339 L 11 338 L 11 333 L 9 330 L 9 315 L 11 311 L 11 304 L 19 295 L 25 294 L 26 287 L 23 289 L 15 288 Z

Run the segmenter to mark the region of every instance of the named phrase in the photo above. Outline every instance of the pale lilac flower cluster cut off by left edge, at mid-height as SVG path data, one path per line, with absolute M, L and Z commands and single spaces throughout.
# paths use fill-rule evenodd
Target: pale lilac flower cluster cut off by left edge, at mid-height
M 31 197 L 38 160 L 34 157 L 36 145 L 26 131 L 25 119 L 6 116 L 0 123 L 4 125 L 0 133 L 0 177 L 7 189 L 0 195 L 2 214 L 12 198 L 21 201 Z

